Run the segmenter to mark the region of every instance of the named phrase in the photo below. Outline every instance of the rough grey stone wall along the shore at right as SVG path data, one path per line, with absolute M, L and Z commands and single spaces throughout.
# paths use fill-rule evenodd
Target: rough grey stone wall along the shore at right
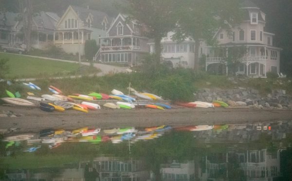
M 253 88 L 219 89 L 204 88 L 194 93 L 197 101 L 227 102 L 230 106 L 250 106 L 268 109 L 292 109 L 292 96 L 285 90 L 273 90 L 271 94 L 261 95 Z

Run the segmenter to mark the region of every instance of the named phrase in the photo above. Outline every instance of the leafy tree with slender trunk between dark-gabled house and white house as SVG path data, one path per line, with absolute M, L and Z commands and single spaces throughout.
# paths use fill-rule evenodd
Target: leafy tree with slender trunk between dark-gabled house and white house
M 127 0 L 126 13 L 129 19 L 135 19 L 146 25 L 143 34 L 154 39 L 155 60 L 160 63 L 161 40 L 169 31 L 172 31 L 177 19 L 175 10 L 180 6 L 180 0 Z

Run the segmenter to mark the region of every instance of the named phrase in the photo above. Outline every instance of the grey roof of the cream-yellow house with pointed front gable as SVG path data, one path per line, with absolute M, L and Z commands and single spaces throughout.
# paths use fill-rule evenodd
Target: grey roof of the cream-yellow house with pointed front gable
M 108 14 L 105 12 L 97 11 L 97 10 L 93 10 L 93 9 L 88 9 L 88 8 L 84 8 L 84 7 L 80 7 L 80 6 L 71 5 L 71 7 L 73 8 L 73 10 L 76 13 L 78 12 L 79 18 L 81 20 L 87 19 L 88 16 L 91 14 L 93 17 L 93 21 L 92 21 L 93 26 L 96 26 L 98 28 L 102 28 L 102 22 L 103 22 L 105 17 L 107 18 L 109 23 L 111 23 L 112 18 L 110 18 L 108 16 Z

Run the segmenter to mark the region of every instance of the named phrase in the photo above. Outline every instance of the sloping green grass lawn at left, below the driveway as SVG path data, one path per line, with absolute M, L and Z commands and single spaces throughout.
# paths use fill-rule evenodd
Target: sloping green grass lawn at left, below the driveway
M 0 53 L 0 59 L 8 58 L 7 79 L 47 78 L 78 74 L 78 63 L 44 60 L 16 54 Z M 89 67 L 89 66 L 86 66 Z

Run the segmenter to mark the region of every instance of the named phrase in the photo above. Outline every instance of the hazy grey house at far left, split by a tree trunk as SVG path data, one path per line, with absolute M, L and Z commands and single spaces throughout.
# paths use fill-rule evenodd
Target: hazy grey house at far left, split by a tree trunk
M 0 13 L 0 44 L 14 46 L 24 43 L 23 20 L 19 20 L 19 13 Z M 31 45 L 42 49 L 53 42 L 55 25 L 59 17 L 52 12 L 39 12 L 33 16 Z

